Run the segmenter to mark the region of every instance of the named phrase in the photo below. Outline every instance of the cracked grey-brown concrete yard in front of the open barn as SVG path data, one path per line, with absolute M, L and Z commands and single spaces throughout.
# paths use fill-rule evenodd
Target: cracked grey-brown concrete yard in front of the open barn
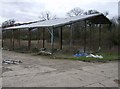
M 87 63 L 49 59 L 31 54 L 3 51 L 2 60 L 23 63 L 3 64 L 3 87 L 117 87 L 117 62 Z

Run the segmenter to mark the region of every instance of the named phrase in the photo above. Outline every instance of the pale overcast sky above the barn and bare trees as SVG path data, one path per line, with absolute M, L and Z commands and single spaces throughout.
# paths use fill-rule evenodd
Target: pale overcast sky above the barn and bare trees
M 50 11 L 57 17 L 66 17 L 74 7 L 83 10 L 95 9 L 109 12 L 109 17 L 117 16 L 119 0 L 0 0 L 0 23 L 8 19 L 17 22 L 38 20 L 43 11 Z

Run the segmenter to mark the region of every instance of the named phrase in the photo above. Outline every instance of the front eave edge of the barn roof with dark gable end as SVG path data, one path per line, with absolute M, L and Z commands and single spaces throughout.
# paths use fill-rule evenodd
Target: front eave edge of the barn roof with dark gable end
M 83 21 L 83 20 L 87 20 L 87 21 L 90 21 L 92 22 L 93 24 L 112 24 L 112 22 L 106 17 L 104 16 L 103 14 L 95 14 L 95 15 L 92 15 L 92 16 L 88 16 L 88 17 L 83 17 L 83 18 L 79 18 L 77 20 L 71 20 L 69 22 L 65 22 L 65 23 L 60 23 L 60 24 L 56 24 L 56 25 L 49 25 L 49 26 L 29 26 L 29 25 L 24 25 L 23 27 L 22 26 L 18 26 L 18 27 L 8 27 L 8 28 L 4 28 L 4 30 L 10 30 L 10 29 L 29 29 L 29 28 L 49 28 L 49 27 L 60 27 L 60 26 L 64 26 L 64 25 L 70 25 L 70 24 L 74 24 L 76 22 L 80 22 L 80 21 Z M 44 22 L 44 21 L 43 21 Z

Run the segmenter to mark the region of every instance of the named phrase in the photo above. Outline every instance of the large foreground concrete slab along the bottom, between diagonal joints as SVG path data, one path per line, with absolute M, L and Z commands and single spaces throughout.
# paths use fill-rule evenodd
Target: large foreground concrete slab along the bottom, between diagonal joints
M 15 80 L 17 78 L 17 80 Z M 8 84 L 7 82 L 3 82 L 3 86 L 23 86 L 23 87 L 82 87 L 85 85 L 89 85 L 92 83 L 96 83 L 99 81 L 103 81 L 106 79 L 104 76 L 97 76 L 95 74 L 87 73 L 81 70 L 71 70 L 63 73 L 48 73 L 45 75 L 32 74 L 32 75 L 24 75 L 19 77 L 6 77 L 4 79 L 9 80 L 9 82 L 13 82 Z M 25 79 L 24 79 L 25 78 Z M 15 84 L 15 85 L 14 85 Z

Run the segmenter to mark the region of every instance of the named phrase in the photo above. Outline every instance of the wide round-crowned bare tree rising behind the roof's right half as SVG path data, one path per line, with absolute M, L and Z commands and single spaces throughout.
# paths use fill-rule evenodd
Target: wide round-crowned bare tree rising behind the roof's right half
M 80 16 L 80 15 L 82 15 L 83 14 L 83 10 L 82 9 L 80 9 L 79 7 L 76 7 L 76 8 L 73 8 L 72 10 L 70 10 L 68 13 L 67 13 L 67 15 L 69 16 L 69 17 L 73 17 L 73 16 Z

